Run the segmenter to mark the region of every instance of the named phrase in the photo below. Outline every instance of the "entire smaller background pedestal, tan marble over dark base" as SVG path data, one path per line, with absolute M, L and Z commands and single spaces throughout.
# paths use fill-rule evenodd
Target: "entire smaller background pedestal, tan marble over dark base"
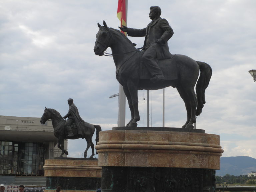
M 98 159 L 47 159 L 43 168 L 46 176 L 44 192 L 55 192 L 57 186 L 61 186 L 62 192 L 92 192 L 101 187 Z

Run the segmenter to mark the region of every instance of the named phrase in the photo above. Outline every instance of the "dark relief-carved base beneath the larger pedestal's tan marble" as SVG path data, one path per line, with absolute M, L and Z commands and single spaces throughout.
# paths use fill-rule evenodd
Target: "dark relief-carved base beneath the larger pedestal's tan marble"
M 215 170 L 102 167 L 102 192 L 215 192 Z

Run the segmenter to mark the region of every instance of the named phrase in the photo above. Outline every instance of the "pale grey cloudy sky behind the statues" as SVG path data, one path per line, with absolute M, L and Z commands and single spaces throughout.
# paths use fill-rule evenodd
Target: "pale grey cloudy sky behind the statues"
M 117 2 L 1 0 L 0 115 L 41 117 L 46 106 L 64 116 L 67 99 L 73 98 L 85 121 L 102 130 L 116 127 L 118 97 L 109 99 L 119 86 L 113 58 L 96 56 L 93 47 L 98 22 L 120 25 Z M 174 30 L 170 52 L 213 69 L 197 128 L 220 135 L 224 157 L 256 158 L 256 83 L 248 73 L 256 69 L 256 1 L 128 0 L 128 27 L 146 27 L 149 7 L 156 5 Z M 129 39 L 143 46 L 144 37 Z M 153 127 L 162 126 L 162 93 L 150 91 Z M 146 126 L 144 98 L 146 91 L 139 91 L 138 126 Z M 126 104 L 126 123 L 129 119 Z M 185 121 L 177 90 L 166 88 L 165 126 L 181 127 Z M 69 140 L 69 157 L 80 157 L 85 147 L 85 140 Z

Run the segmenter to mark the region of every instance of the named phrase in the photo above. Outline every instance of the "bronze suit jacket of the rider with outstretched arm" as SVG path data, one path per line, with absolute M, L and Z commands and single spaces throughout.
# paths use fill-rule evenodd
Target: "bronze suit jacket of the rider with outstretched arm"
M 156 20 L 152 20 L 152 22 L 143 29 L 128 28 L 127 35 L 131 37 L 145 37 L 144 46 L 153 43 L 157 39 L 162 39 L 164 41 L 163 44 L 153 43 L 151 45 L 156 49 L 157 58 L 166 59 L 172 56 L 167 41 L 172 37 L 173 30 L 166 19 L 159 17 Z M 146 49 L 147 48 L 145 48 L 145 50 Z

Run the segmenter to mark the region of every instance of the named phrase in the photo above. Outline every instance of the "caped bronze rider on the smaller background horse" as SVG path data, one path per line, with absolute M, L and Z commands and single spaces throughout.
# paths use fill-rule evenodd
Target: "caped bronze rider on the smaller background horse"
M 73 102 L 74 102 L 73 99 L 71 99 L 71 98 L 68 99 L 69 110 L 68 110 L 68 113 L 63 117 L 64 119 L 66 119 L 68 117 L 68 120 L 65 122 L 65 128 L 68 132 L 67 137 L 74 136 L 74 134 L 72 132 L 72 128 L 71 128 L 71 125 L 73 122 L 77 126 L 78 134 L 83 135 L 82 134 L 82 123 L 84 123 L 85 121 L 80 117 L 78 109 Z

